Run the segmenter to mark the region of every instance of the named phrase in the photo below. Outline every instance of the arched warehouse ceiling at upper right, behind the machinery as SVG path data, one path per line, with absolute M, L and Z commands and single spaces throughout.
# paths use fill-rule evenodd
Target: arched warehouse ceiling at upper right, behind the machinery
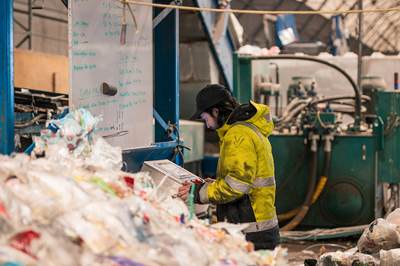
M 363 0 L 362 10 L 381 10 L 399 8 L 397 0 Z M 347 11 L 360 10 L 358 0 L 232 0 L 231 8 L 237 10 L 269 11 Z M 301 42 L 328 43 L 330 40 L 330 18 L 334 14 L 294 14 Z M 359 13 L 342 13 L 344 28 L 349 33 L 350 49 L 358 52 Z M 244 28 L 243 44 L 259 47 L 271 46 L 271 40 L 264 33 L 264 15 L 238 13 L 239 22 Z M 362 55 L 380 51 L 386 55 L 400 51 L 399 28 L 400 10 L 362 13 Z

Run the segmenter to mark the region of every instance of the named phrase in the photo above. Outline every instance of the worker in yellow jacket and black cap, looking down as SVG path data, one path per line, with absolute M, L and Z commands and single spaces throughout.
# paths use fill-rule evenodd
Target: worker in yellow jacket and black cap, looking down
M 275 210 L 275 176 L 268 136 L 273 122 L 268 106 L 239 104 L 223 85 L 212 84 L 198 92 L 191 120 L 204 119 L 220 138 L 216 180 L 182 183 L 178 196 L 193 202 L 216 204 L 218 222 L 247 224 L 246 240 L 255 250 L 274 249 L 280 243 Z

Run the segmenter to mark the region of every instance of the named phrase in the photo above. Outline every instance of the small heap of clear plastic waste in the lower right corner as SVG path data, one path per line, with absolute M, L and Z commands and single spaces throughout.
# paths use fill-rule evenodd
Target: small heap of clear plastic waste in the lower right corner
M 357 247 L 324 253 L 318 266 L 397 266 L 400 265 L 400 208 L 371 222 Z

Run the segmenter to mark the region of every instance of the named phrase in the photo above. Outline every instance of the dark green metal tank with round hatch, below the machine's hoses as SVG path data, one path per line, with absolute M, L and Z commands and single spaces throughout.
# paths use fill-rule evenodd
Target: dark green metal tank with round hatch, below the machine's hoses
M 298 207 L 306 197 L 310 180 L 310 147 L 305 144 L 303 135 L 271 135 L 269 140 L 275 161 L 275 206 L 278 214 L 283 214 Z M 321 173 L 323 156 L 320 141 L 318 173 Z M 336 135 L 327 183 L 300 227 L 334 228 L 369 224 L 374 220 L 378 208 L 376 161 L 374 136 Z

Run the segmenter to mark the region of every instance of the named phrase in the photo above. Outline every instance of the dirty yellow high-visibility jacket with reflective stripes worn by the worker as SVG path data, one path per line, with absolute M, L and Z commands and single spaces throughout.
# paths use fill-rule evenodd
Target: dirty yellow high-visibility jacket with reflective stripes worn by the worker
M 220 156 L 214 183 L 200 188 L 202 203 L 216 203 L 218 221 L 249 223 L 246 232 L 263 231 L 278 224 L 275 211 L 275 176 L 268 136 L 273 122 L 268 106 L 246 103 L 234 110 L 217 130 Z M 252 116 L 246 120 L 246 108 Z M 254 114 L 254 115 L 253 115 Z M 232 119 L 233 116 L 233 119 Z

